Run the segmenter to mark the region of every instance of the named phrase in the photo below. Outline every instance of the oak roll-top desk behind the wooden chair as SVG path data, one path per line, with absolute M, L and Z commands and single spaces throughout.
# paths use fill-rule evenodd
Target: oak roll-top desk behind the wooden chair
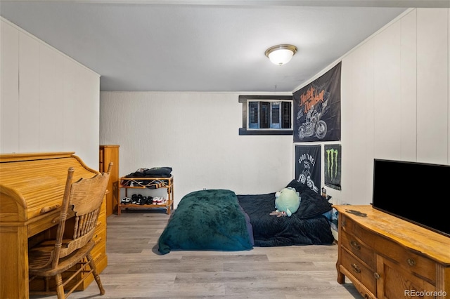
M 0 154 L 0 298 L 29 298 L 30 288 L 41 287 L 39 281 L 29 285 L 28 244 L 53 235 L 69 167 L 75 168 L 74 181 L 98 173 L 74 152 Z M 92 255 L 101 272 L 108 264 L 105 200 L 94 238 Z

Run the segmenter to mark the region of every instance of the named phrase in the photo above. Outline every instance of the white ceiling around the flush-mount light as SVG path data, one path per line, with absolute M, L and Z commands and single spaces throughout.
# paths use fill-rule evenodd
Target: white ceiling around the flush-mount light
M 0 0 L 0 15 L 101 74 L 101 91 L 295 91 L 408 7 L 445 1 Z M 287 65 L 266 48 L 293 44 Z

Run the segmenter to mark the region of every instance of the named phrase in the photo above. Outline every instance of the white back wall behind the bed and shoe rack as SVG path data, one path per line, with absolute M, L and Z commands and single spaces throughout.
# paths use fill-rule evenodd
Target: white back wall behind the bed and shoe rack
M 203 188 L 276 192 L 293 178 L 292 135 L 238 135 L 240 94 L 103 92 L 101 144 L 120 145 L 120 175 L 172 166 L 175 206 Z

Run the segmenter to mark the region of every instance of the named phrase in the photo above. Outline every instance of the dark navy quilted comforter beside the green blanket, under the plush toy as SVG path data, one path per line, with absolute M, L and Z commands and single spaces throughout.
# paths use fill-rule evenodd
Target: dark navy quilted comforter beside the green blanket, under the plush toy
M 330 222 L 323 213 L 331 205 L 311 190 L 300 193 L 297 212 L 290 217 L 271 216 L 275 211 L 275 193 L 238 195 L 240 206 L 250 216 L 255 246 L 332 244 Z

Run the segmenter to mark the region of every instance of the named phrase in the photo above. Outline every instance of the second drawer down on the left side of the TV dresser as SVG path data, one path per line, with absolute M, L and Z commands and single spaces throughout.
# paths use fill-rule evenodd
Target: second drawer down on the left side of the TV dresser
M 341 265 L 350 272 L 361 284 L 363 284 L 369 291 L 376 294 L 376 279 L 374 272 L 368 269 L 366 265 L 354 258 L 351 253 L 347 252 L 345 248 L 340 249 Z

